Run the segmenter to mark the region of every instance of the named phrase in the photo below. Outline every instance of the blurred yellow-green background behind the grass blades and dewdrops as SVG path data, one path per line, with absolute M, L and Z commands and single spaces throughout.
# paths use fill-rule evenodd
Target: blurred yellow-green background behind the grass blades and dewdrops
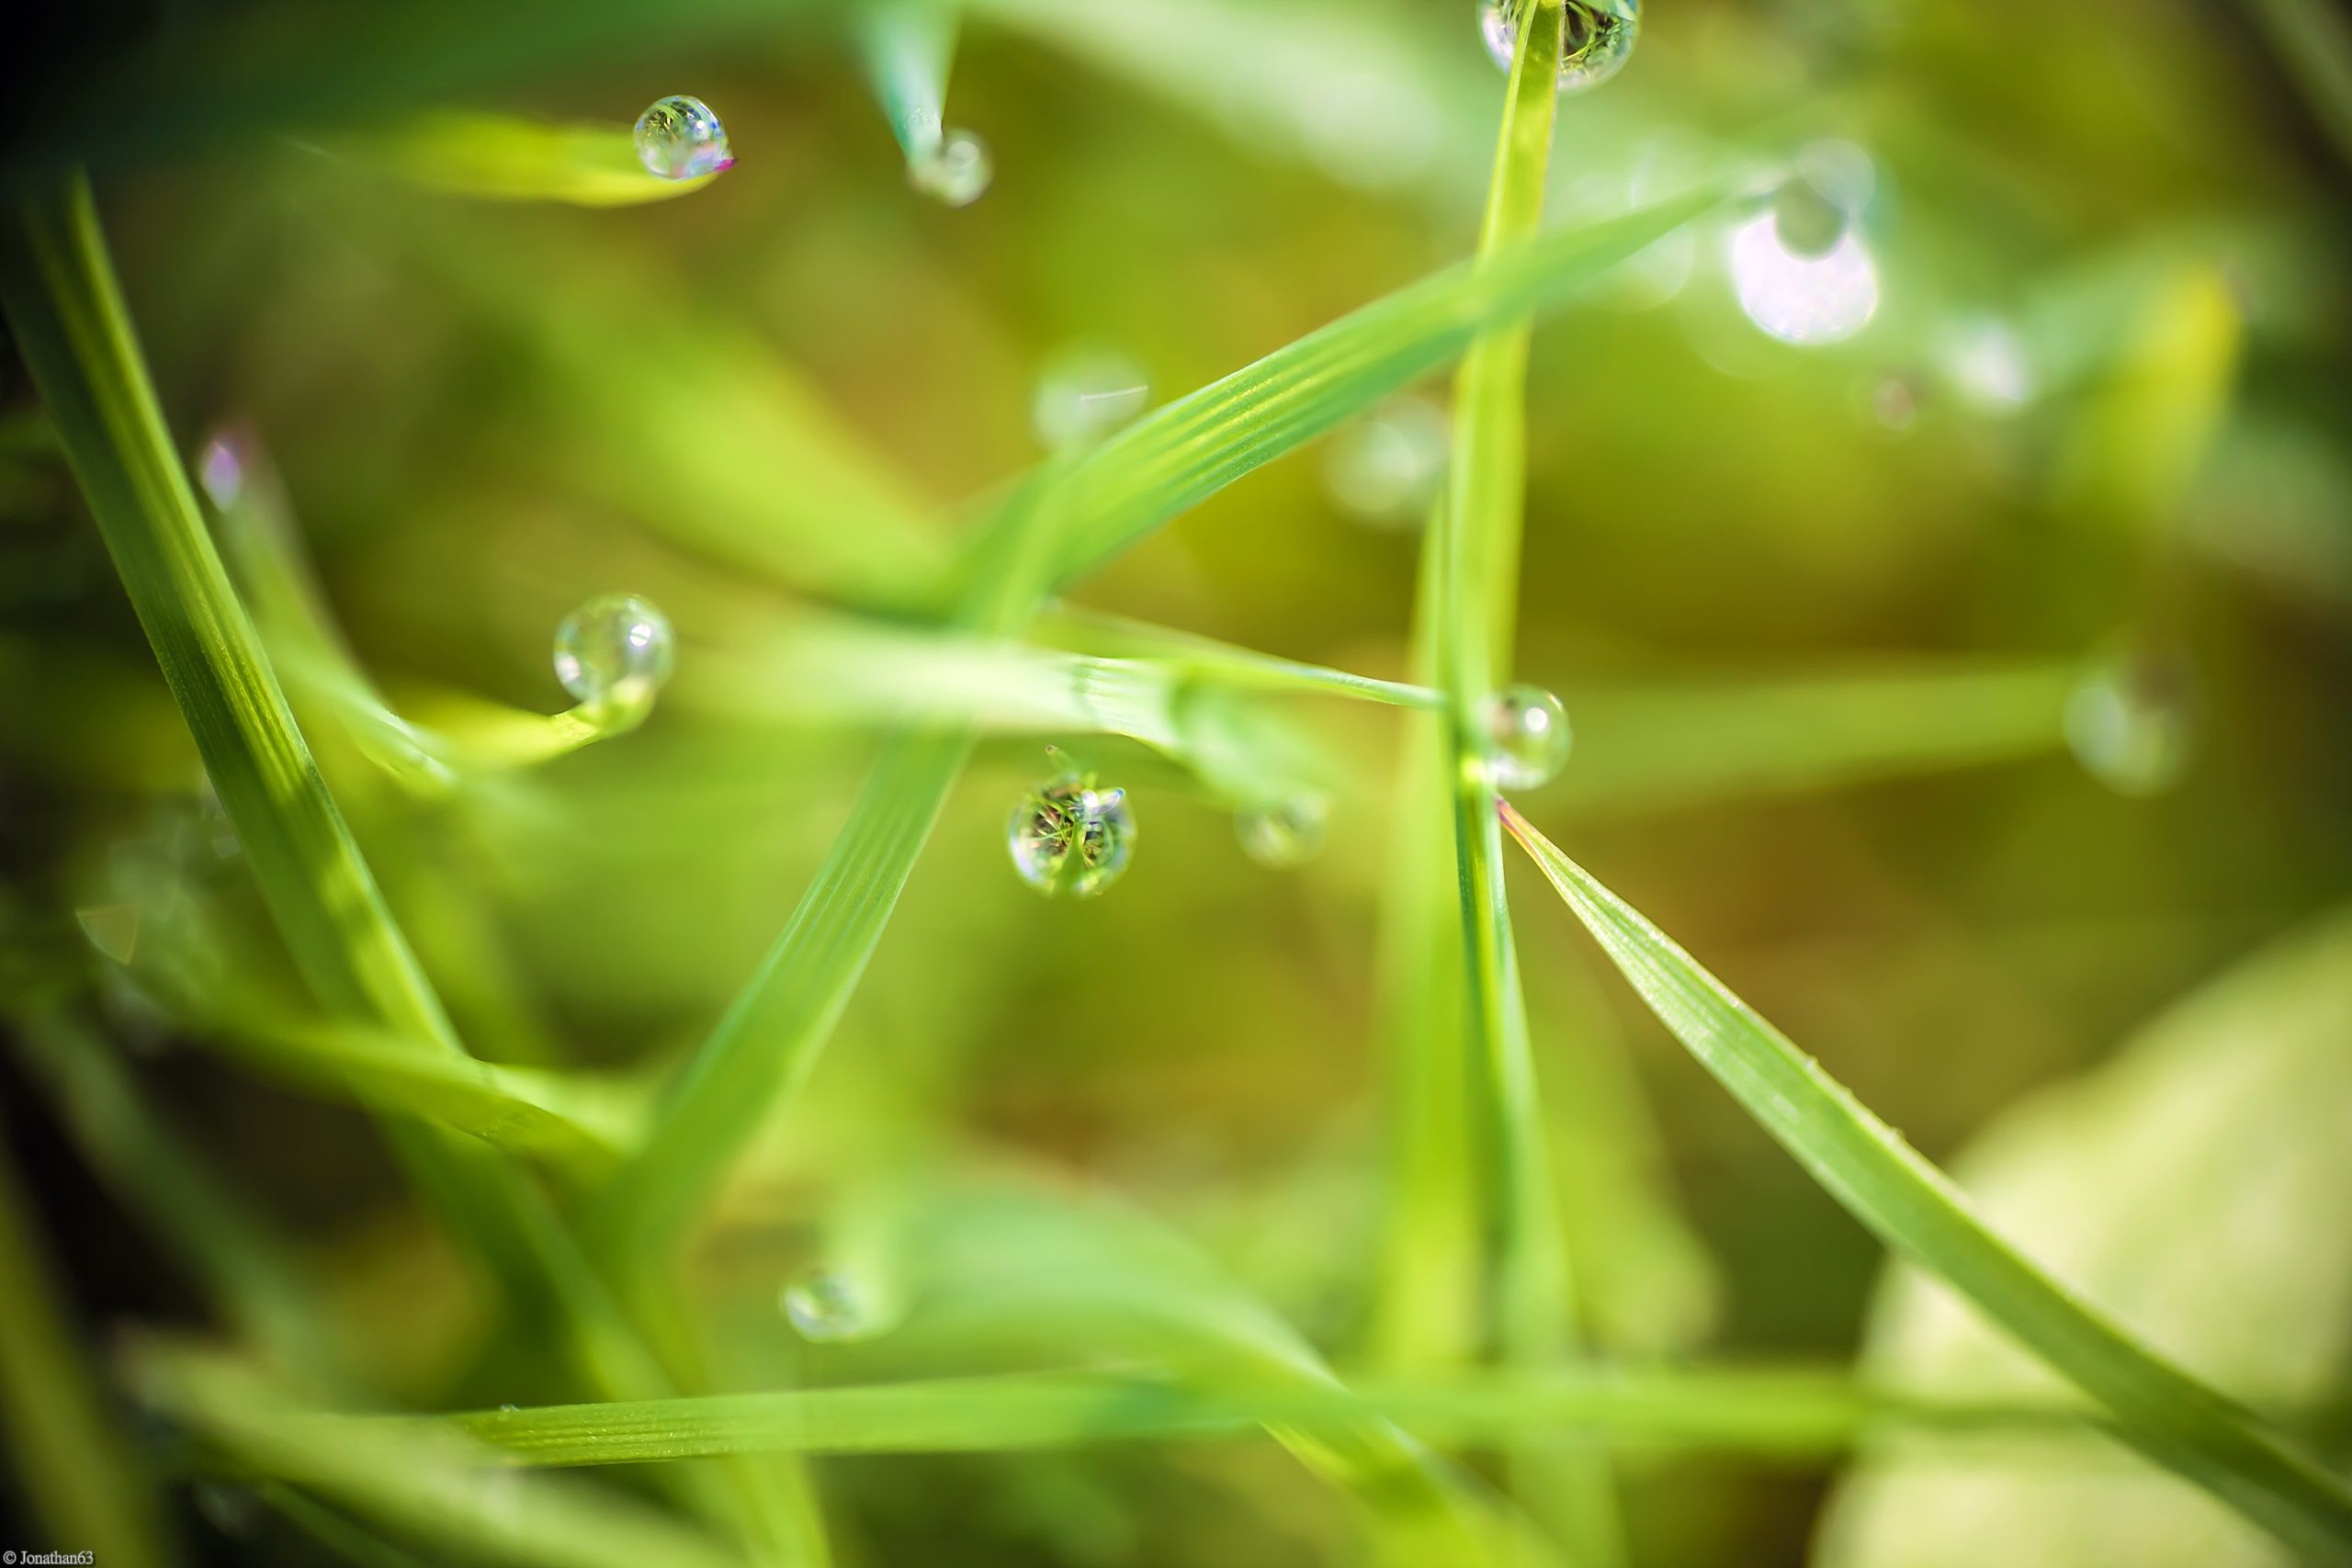
M 557 120 L 699 94 L 739 165 L 675 202 L 468 202 L 301 122 L 207 132 L 200 101 L 198 132 L 167 115 L 148 141 L 125 132 L 94 179 L 174 435 L 193 454 L 233 423 L 268 454 L 395 708 L 562 708 L 548 639 L 595 592 L 642 592 L 677 628 L 677 689 L 642 731 L 445 799 L 400 797 L 303 712 L 475 1053 L 649 1084 L 701 1039 L 840 827 L 873 726 L 760 717 L 760 693 L 696 686 L 699 654 L 828 599 L 896 614 L 858 562 L 889 559 L 873 545 L 896 517 L 946 552 L 1037 461 L 1033 388 L 1056 353 L 1115 346 L 1160 402 L 1468 254 L 1501 113 L 1472 9 L 976 5 L 950 120 L 997 174 L 967 209 L 908 188 L 849 38 L 804 16 L 666 28 L 647 7 L 626 47 L 461 78 L 468 103 Z M 2324 926 L 2352 882 L 2352 146 L 2260 9 L 1653 2 L 1625 73 L 1562 101 L 1555 219 L 1849 143 L 1875 176 L 1853 230 L 1879 306 L 1846 341 L 1769 339 L 1733 294 L 1733 216 L 1538 329 L 1517 670 L 1562 693 L 1578 752 L 1519 804 L 1924 1154 L 1973 1145 L 2006 1194 L 1994 1215 L 2053 1267 L 2131 1253 L 2093 1284 L 2126 1321 L 2225 1387 L 2277 1378 L 2291 1387 L 2239 1392 L 2326 1406 L 2352 1349 L 2352 945 Z M 209 40 L 214 21 L 160 7 L 132 38 Z M 49 96 L 21 96 L 40 113 L 12 146 L 49 146 L 54 94 L 85 80 L 111 103 L 115 68 L 113 49 L 59 63 Z M 1957 348 L 1987 322 L 2020 376 L 1994 395 Z M 1327 456 L 1251 475 L 1073 597 L 1402 679 L 1418 534 L 1336 505 Z M 2072 670 L 2119 639 L 2197 670 L 2194 755 L 2150 799 L 2100 788 L 2056 731 L 1980 766 L 1816 769 L 1806 736 L 1835 752 L 1860 733 L 1867 752 L 1884 715 L 1757 693 L 1976 661 Z M 1900 691 L 1919 719 L 1936 686 Z M 755 1300 L 769 1354 L 823 1375 L 771 1305 L 816 1218 L 955 1157 L 1124 1194 L 1348 1363 L 1381 1222 L 1397 715 L 1282 715 L 1345 780 L 1319 858 L 1251 863 L 1225 806 L 1103 745 L 1141 835 L 1127 879 L 1084 903 L 1040 900 L 1002 849 L 1054 736 L 983 745 L 807 1093 L 691 1265 L 713 1298 Z M 1743 762 L 1776 745 L 1799 757 L 1788 778 Z M 200 957 L 275 964 L 14 362 L 0 766 L 12 994 L 94 1020 L 169 1124 L 301 1237 L 386 1392 L 557 1396 L 529 1359 L 477 1361 L 480 1293 L 358 1112 L 207 1051 L 141 999 L 136 954 L 125 969 L 82 938 L 75 912 L 139 907 L 148 931 L 195 922 Z M 1900 1312 L 1867 1328 L 1879 1246 L 1602 973 L 1541 882 L 1512 877 L 1602 1345 L 1849 1361 L 1867 1335 L 1931 1366 L 1933 1335 L 1905 1340 Z M 2246 983 L 2279 940 L 2305 943 L 2267 987 L 2286 1001 L 2263 992 L 2178 1025 L 2197 1041 L 2171 1058 L 2136 1056 L 2143 1025 L 2232 971 Z M 2312 1046 L 2253 1074 L 2281 1039 Z M 2253 1081 L 2147 1084 L 2230 1063 Z M 2093 1088 L 2037 1100 L 2077 1079 Z M 38 1081 L 12 1067 L 7 1133 L 75 1321 L 103 1349 L 127 1319 L 200 1319 Z M 2131 1114 L 2185 1121 L 2133 1121 L 2140 1091 Z M 2169 1093 L 2185 1100 L 2166 1112 Z M 2176 1133 L 2086 1159 L 2100 1117 Z M 2006 1133 L 1983 1143 L 1987 1126 Z M 2173 1180 L 2185 1150 L 2201 1180 Z M 2263 1159 L 2303 1164 L 2265 1185 Z M 2053 1213 L 2082 1237 L 2042 1229 Z M 2225 1258 L 2230 1291 L 2183 1307 L 2166 1272 L 2197 1276 L 2183 1255 Z M 2234 1359 L 2246 1319 L 2263 1354 Z M 2100 1521 L 2140 1502 L 2103 1505 L 2122 1483 L 2098 1467 L 2023 1500 L 1976 1476 L 1973 1505 L 1936 1512 L 1889 1490 L 1900 1465 L 1835 1493 L 1844 1533 L 1820 1535 L 1837 1465 L 1630 1462 L 1635 1561 L 2272 1561 L 2201 1516 L 2218 1535 L 2117 1544 Z M 1303 1563 L 1348 1537 L 1270 1443 L 821 1479 L 847 1561 Z M 195 1561 L 327 1561 L 266 1514 L 223 1526 L 174 1495 Z M 1950 1549 L 1994 1519 L 2025 1535 Z

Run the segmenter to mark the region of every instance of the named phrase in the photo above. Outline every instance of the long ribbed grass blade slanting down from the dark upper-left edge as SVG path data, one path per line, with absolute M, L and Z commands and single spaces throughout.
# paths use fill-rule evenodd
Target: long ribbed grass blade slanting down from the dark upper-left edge
M 198 520 L 82 174 L 16 193 L 0 306 L 303 980 L 334 1018 L 466 1060 Z M 386 1131 L 513 1312 L 560 1326 L 607 1392 L 668 1392 L 522 1173 L 454 1133 Z

